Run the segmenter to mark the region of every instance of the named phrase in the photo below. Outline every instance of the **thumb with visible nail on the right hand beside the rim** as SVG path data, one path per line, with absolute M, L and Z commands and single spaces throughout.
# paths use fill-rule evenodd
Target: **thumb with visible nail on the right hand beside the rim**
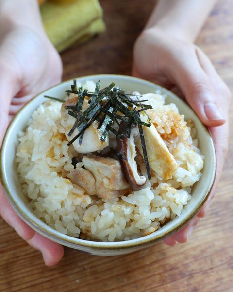
M 226 117 L 221 112 L 215 89 L 200 66 L 195 50 L 191 54 L 190 50 L 184 50 L 182 60 L 181 62 L 180 56 L 174 55 L 172 66 L 167 68 L 175 83 L 204 124 L 212 127 L 223 125 Z M 220 77 L 218 78 L 220 81 Z

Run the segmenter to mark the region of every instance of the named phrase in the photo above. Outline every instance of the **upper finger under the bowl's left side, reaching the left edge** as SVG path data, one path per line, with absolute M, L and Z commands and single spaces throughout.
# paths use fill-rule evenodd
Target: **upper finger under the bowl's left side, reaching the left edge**
M 12 226 L 17 234 L 24 240 L 29 240 L 34 236 L 34 230 L 29 227 L 22 219 L 18 217 L 16 212 L 11 207 L 10 203 L 7 201 L 5 195 L 3 194 L 2 186 L 0 185 L 0 214 L 2 218 Z

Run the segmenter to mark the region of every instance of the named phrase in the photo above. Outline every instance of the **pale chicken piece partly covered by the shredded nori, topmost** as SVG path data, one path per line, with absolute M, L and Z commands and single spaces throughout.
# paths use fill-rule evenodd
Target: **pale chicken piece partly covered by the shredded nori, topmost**
M 61 108 L 61 125 L 65 129 L 65 135 L 68 141 L 71 141 L 77 134 L 78 130 L 75 129 L 72 135 L 69 137 L 68 133 L 73 127 L 76 119 L 68 114 L 67 106 L 75 106 L 78 101 L 78 96 L 75 94 L 70 94 L 66 102 L 63 103 Z M 82 111 L 89 107 L 87 98 L 83 101 Z M 95 151 L 101 151 L 108 146 L 108 136 L 105 141 L 101 141 L 100 138 L 102 133 L 97 129 L 99 123 L 94 121 L 89 128 L 87 128 L 83 135 L 82 144 L 79 145 L 79 139 L 75 140 L 72 145 L 78 153 L 91 153 Z

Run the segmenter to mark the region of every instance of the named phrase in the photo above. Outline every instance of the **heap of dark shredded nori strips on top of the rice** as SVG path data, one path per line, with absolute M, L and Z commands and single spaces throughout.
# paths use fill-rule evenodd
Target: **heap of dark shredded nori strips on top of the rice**
M 120 139 L 122 137 L 130 138 L 131 129 L 133 127 L 138 127 L 147 175 L 150 179 L 150 166 L 143 133 L 143 126 L 150 127 L 151 125 L 151 120 L 146 110 L 152 109 L 152 106 L 143 104 L 143 102 L 147 102 L 148 100 L 140 100 L 139 97 L 141 96 L 126 93 L 126 91 L 121 88 L 115 87 L 115 83 L 111 83 L 109 86 L 100 90 L 100 80 L 96 82 L 94 92 L 88 92 L 86 89 L 83 90 L 82 86 L 77 88 L 76 80 L 73 80 L 71 90 L 67 90 L 66 92 L 78 96 L 75 105 L 66 107 L 68 114 L 75 118 L 74 125 L 69 131 L 68 136 L 70 137 L 74 133 L 74 130 L 77 130 L 78 132 L 78 134 L 68 143 L 68 146 L 77 139 L 79 139 L 79 145 L 81 145 L 85 130 L 95 121 L 98 122 L 97 129 L 101 133 L 101 141 L 107 139 L 109 132 L 112 132 Z M 65 100 L 55 97 L 45 97 L 62 103 L 65 102 Z M 82 112 L 85 97 L 88 97 L 89 107 Z M 147 116 L 146 122 L 141 120 L 140 114 Z M 120 153 L 117 153 L 113 149 L 111 150 L 117 155 L 117 157 L 126 159 L 125 157 L 122 157 Z

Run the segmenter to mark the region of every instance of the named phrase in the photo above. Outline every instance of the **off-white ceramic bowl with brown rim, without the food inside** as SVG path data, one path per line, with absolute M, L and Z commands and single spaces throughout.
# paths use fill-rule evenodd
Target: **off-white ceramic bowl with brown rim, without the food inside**
M 14 117 L 7 129 L 0 152 L 0 178 L 5 194 L 19 217 L 38 233 L 64 246 L 93 255 L 122 255 L 145 248 L 171 236 L 183 228 L 199 212 L 201 206 L 207 200 L 214 182 L 216 154 L 213 140 L 207 128 L 200 122 L 193 110 L 172 92 L 154 83 L 130 76 L 92 75 L 79 77 L 77 81 L 85 82 L 87 80 L 93 80 L 96 82 L 99 79 L 101 80 L 101 87 L 115 82 L 116 86 L 123 88 L 127 92 L 139 91 L 144 94 L 160 90 L 162 94 L 166 94 L 166 103 L 175 103 L 179 108 L 179 112 L 185 115 L 185 119 L 192 119 L 194 121 L 195 127 L 197 128 L 199 147 L 201 153 L 205 156 L 204 168 L 200 181 L 197 182 L 192 189 L 192 198 L 183 208 L 182 214 L 167 223 L 161 229 L 145 237 L 120 242 L 96 242 L 61 234 L 42 222 L 32 213 L 27 206 L 27 200 L 21 191 L 21 186 L 17 178 L 16 164 L 14 162 L 16 147 L 18 145 L 17 133 L 25 129 L 33 111 L 46 100 L 43 97 L 44 95 L 64 98 L 64 91 L 70 87 L 72 80 L 62 82 L 35 96 Z

